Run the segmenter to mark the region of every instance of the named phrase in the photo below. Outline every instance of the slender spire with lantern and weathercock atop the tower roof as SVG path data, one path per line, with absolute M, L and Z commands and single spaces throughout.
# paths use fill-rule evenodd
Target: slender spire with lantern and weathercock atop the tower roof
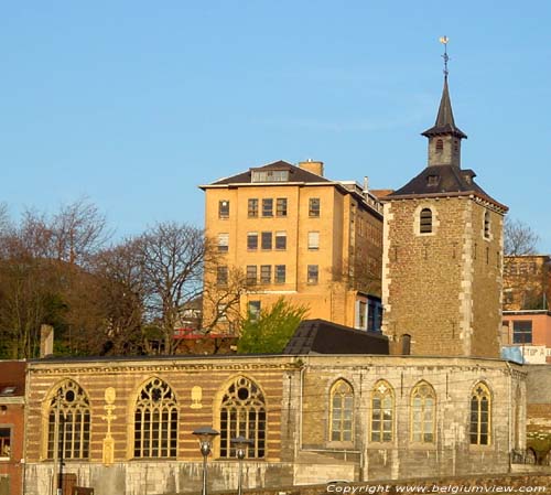
M 440 100 L 439 114 L 434 126 L 426 129 L 422 136 L 429 138 L 429 166 L 454 165 L 461 168 L 461 140 L 466 139 L 465 134 L 455 126 L 453 118 L 452 100 L 447 87 L 447 37 L 440 39 L 444 44 L 444 88 Z

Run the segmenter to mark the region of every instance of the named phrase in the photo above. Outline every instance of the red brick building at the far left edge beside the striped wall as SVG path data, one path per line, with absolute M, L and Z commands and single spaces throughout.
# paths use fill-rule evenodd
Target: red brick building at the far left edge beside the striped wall
M 0 495 L 23 493 L 25 363 L 0 362 Z

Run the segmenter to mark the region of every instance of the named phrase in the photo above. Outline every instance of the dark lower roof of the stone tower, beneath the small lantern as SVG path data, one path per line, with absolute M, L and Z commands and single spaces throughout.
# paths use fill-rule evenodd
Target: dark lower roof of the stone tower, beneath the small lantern
M 413 177 L 403 187 L 381 198 L 395 200 L 404 196 L 436 196 L 456 194 L 476 194 L 507 211 L 507 206 L 498 203 L 475 183 L 476 173 L 472 170 L 462 170 L 454 165 L 426 166 L 418 176 Z

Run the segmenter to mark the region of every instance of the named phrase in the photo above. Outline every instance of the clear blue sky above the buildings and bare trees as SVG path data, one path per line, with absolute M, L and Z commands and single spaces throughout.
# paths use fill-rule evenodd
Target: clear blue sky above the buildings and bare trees
M 0 15 L 0 201 L 87 196 L 118 236 L 203 225 L 198 184 L 274 160 L 398 189 L 442 45 L 463 166 L 551 252 L 551 2 L 29 1 Z

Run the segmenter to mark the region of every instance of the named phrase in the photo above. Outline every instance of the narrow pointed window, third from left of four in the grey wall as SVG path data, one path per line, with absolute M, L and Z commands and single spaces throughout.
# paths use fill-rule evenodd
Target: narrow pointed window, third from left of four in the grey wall
M 435 416 L 436 394 L 426 381 L 421 381 L 411 391 L 412 442 L 434 442 Z

